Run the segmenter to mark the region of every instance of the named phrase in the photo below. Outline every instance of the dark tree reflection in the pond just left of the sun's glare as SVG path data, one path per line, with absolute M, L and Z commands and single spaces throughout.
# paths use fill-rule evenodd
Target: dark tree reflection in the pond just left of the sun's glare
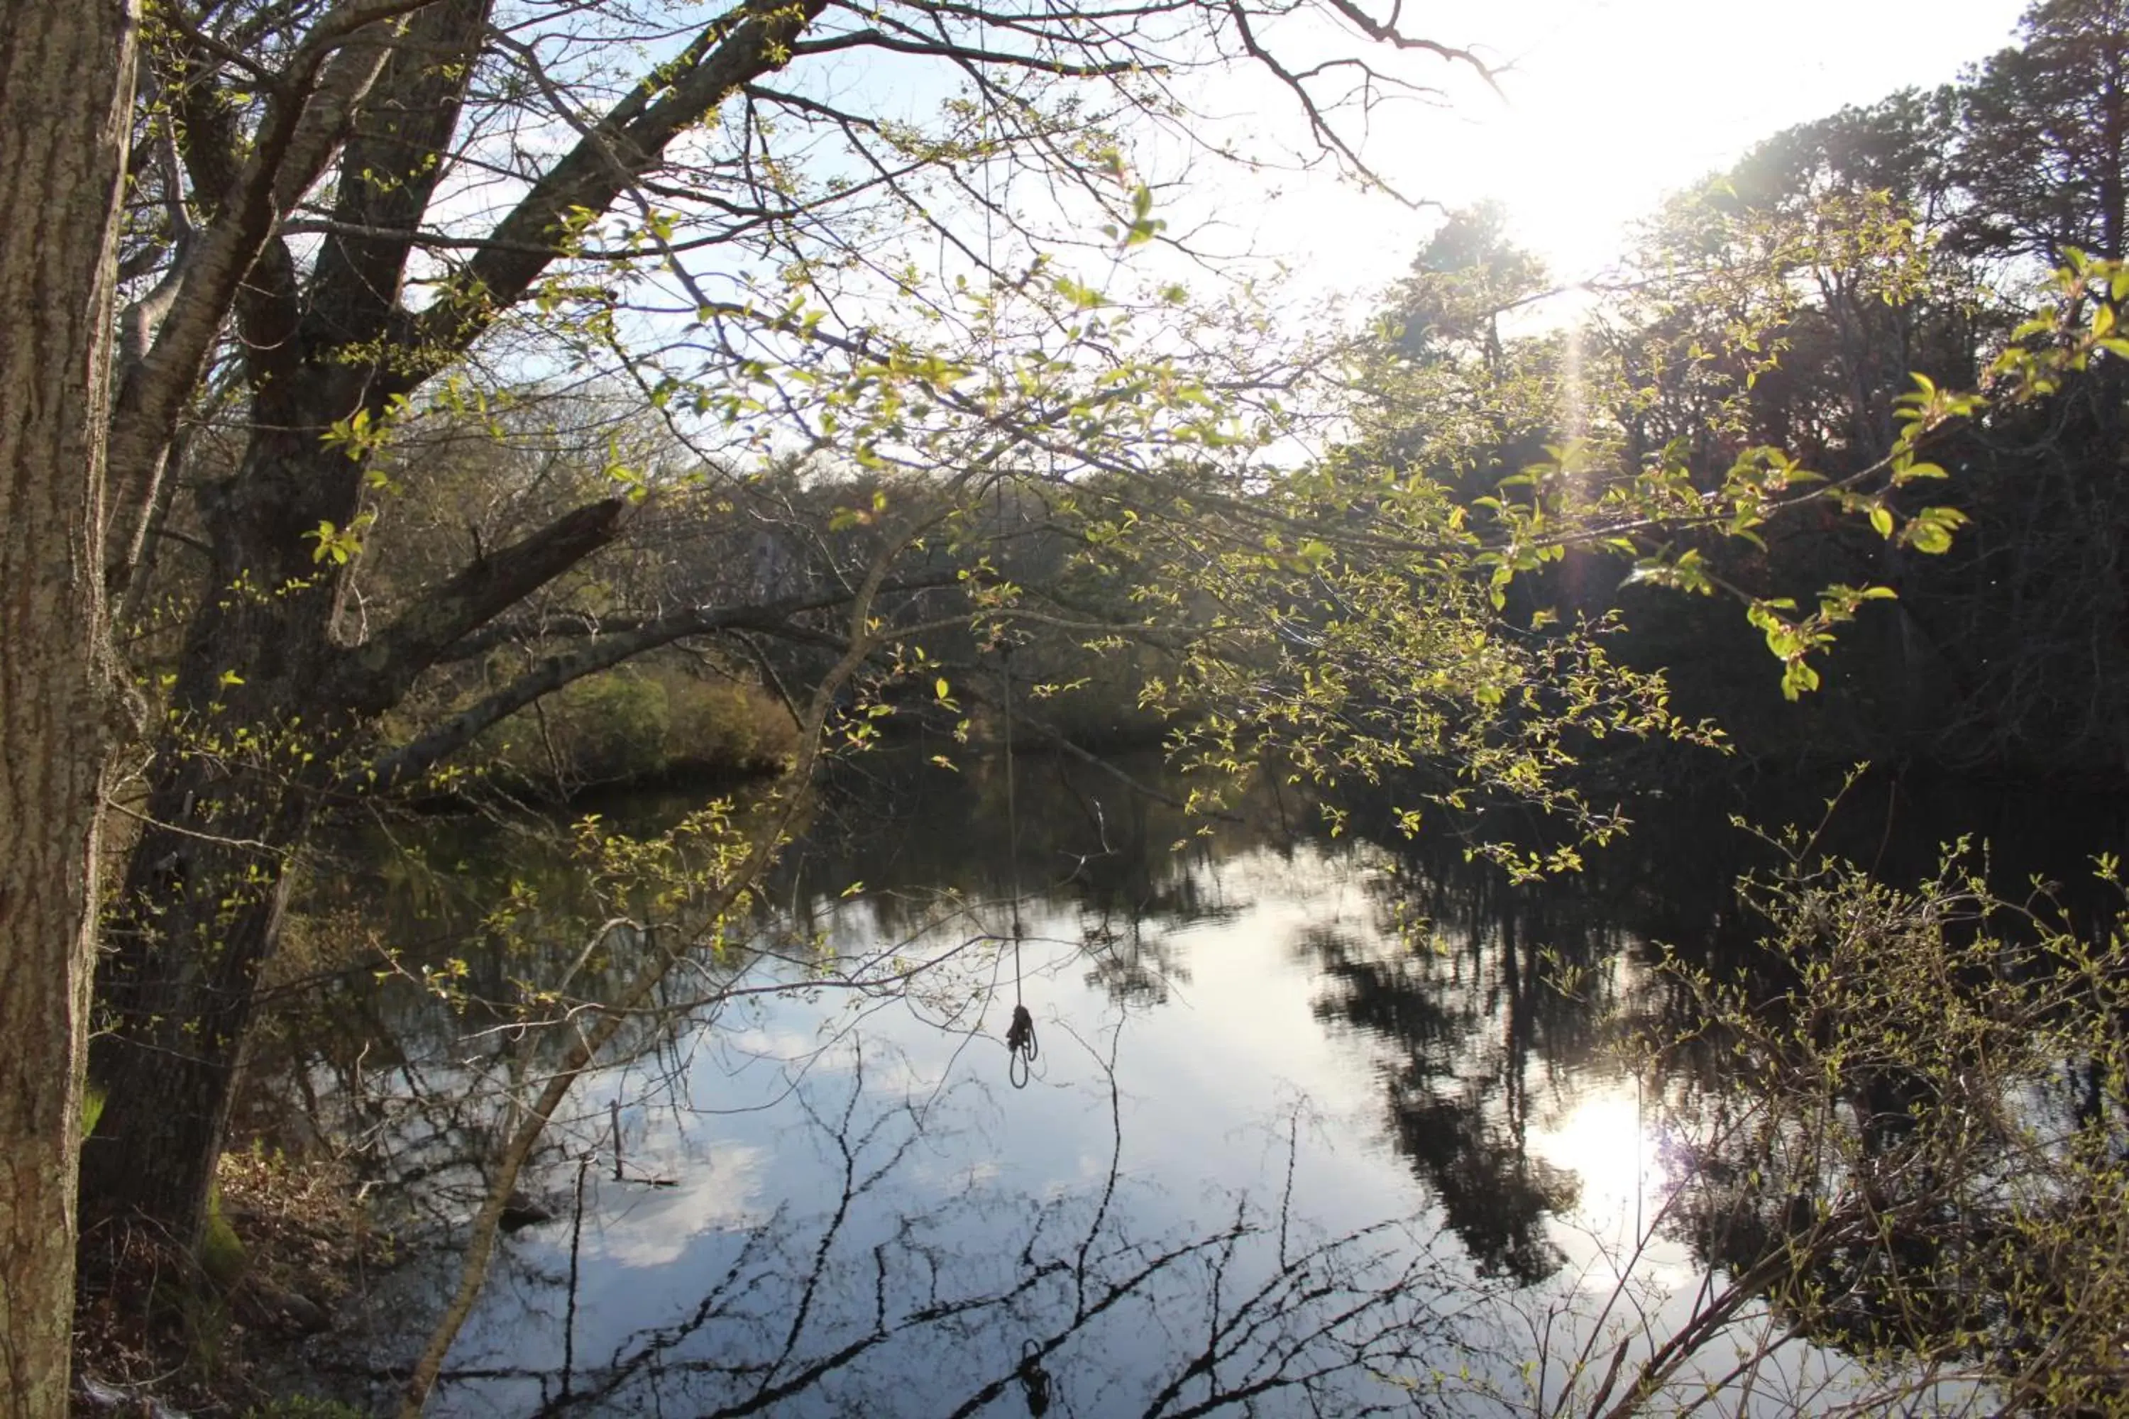
M 1797 791 L 1822 808 L 1816 785 Z M 1635 1028 L 1690 1036 L 1701 1023 L 1671 979 L 1618 970 L 1618 957 L 1644 959 L 1639 942 L 1656 940 L 1710 964 L 1750 957 L 1754 923 L 1731 883 L 1763 853 L 1729 825 L 1737 802 L 1716 783 L 1693 802 L 1641 804 L 1635 832 L 1588 853 L 1571 879 L 1518 887 L 1467 862 L 1454 838 L 1403 840 L 1386 802 L 1352 802 L 1363 836 L 1373 828 L 1390 845 L 1371 883 L 1377 930 L 1316 930 L 1301 942 L 1326 979 L 1316 1015 L 1392 1049 L 1384 1102 L 1394 1147 L 1482 1268 L 1537 1281 L 1558 1266 L 1546 1219 L 1573 1206 L 1580 1179 L 1529 1153 L 1533 1119 L 1605 1057 L 1607 1038 Z M 1859 804 L 1844 830 L 1882 851 L 1878 806 Z M 1786 808 L 1765 811 L 1780 819 Z M 1431 940 L 1401 942 L 1412 921 Z M 1558 989 L 1567 976 L 1571 994 Z

